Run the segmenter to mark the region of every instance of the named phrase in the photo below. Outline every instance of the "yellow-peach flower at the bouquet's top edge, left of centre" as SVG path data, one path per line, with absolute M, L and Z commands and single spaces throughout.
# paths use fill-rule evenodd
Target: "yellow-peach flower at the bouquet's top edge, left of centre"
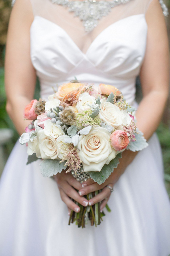
M 72 91 L 78 92 L 84 87 L 82 83 L 65 83 L 59 86 L 58 92 L 56 93 L 56 97 L 59 100 L 62 100 L 63 97 L 71 93 Z M 78 90 L 79 89 L 79 90 Z

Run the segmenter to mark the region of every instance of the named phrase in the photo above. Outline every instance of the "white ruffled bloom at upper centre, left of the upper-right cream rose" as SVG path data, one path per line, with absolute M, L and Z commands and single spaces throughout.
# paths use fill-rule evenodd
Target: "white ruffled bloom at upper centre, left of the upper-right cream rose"
M 87 104 L 92 105 L 93 103 L 96 103 L 95 97 L 90 96 L 89 93 L 82 93 L 79 96 L 79 101 L 76 105 L 76 108 L 78 109 L 78 111 L 86 110 L 90 108 L 90 106 L 87 106 Z

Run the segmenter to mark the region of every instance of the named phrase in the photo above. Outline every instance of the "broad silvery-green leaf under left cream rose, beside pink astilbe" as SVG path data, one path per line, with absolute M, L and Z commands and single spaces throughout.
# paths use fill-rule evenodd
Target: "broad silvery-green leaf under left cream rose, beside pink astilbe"
M 61 173 L 67 166 L 64 166 L 66 161 L 62 163 L 60 161 L 60 159 L 44 159 L 40 162 L 40 172 L 44 177 L 51 177 L 57 173 Z

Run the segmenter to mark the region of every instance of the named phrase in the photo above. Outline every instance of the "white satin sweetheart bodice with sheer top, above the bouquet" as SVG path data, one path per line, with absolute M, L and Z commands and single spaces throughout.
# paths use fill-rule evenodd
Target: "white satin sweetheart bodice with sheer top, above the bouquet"
M 34 6 L 36 1 L 33 1 Z M 45 1 L 52 8 L 58 8 L 56 13 L 67 12 L 68 19 L 72 18 L 73 14 L 63 6 Z M 105 83 L 117 87 L 132 104 L 135 98 L 135 80 L 140 72 L 147 41 L 145 12 L 143 9 L 133 10 L 132 7 L 134 3 L 137 5 L 142 1 L 131 0 L 112 8 L 114 13 L 111 11 L 108 17 L 103 18 L 105 26 L 101 20 L 99 29 L 96 27 L 91 33 L 84 33 L 83 27 L 77 28 L 78 25 L 81 26 L 80 20 L 76 24 L 69 24 L 70 27 L 67 23 L 64 27 L 67 14 L 66 18 L 54 20 L 37 8 L 39 11 L 35 11 L 30 29 L 31 60 L 40 80 L 41 97 L 47 98 L 53 93 L 53 88 L 57 90 L 60 84 L 69 82 L 76 76 L 80 82 Z M 129 6 L 129 12 L 125 12 Z M 115 9 L 116 12 L 119 11 L 120 18 L 118 14 L 115 16 Z M 110 15 L 114 15 L 114 19 Z M 72 20 L 74 19 L 78 18 L 73 17 Z M 100 27 L 103 27 L 102 31 Z M 80 42 L 79 34 L 88 47 Z M 86 52 L 81 48 L 86 48 Z

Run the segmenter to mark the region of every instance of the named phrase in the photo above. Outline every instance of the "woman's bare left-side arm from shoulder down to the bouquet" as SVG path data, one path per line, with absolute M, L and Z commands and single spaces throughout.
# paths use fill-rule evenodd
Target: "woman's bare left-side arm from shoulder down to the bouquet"
M 33 98 L 36 73 L 30 58 L 29 29 L 33 21 L 30 0 L 16 0 L 12 9 L 5 53 L 6 110 L 19 134 L 30 121 L 23 120 L 25 106 Z

